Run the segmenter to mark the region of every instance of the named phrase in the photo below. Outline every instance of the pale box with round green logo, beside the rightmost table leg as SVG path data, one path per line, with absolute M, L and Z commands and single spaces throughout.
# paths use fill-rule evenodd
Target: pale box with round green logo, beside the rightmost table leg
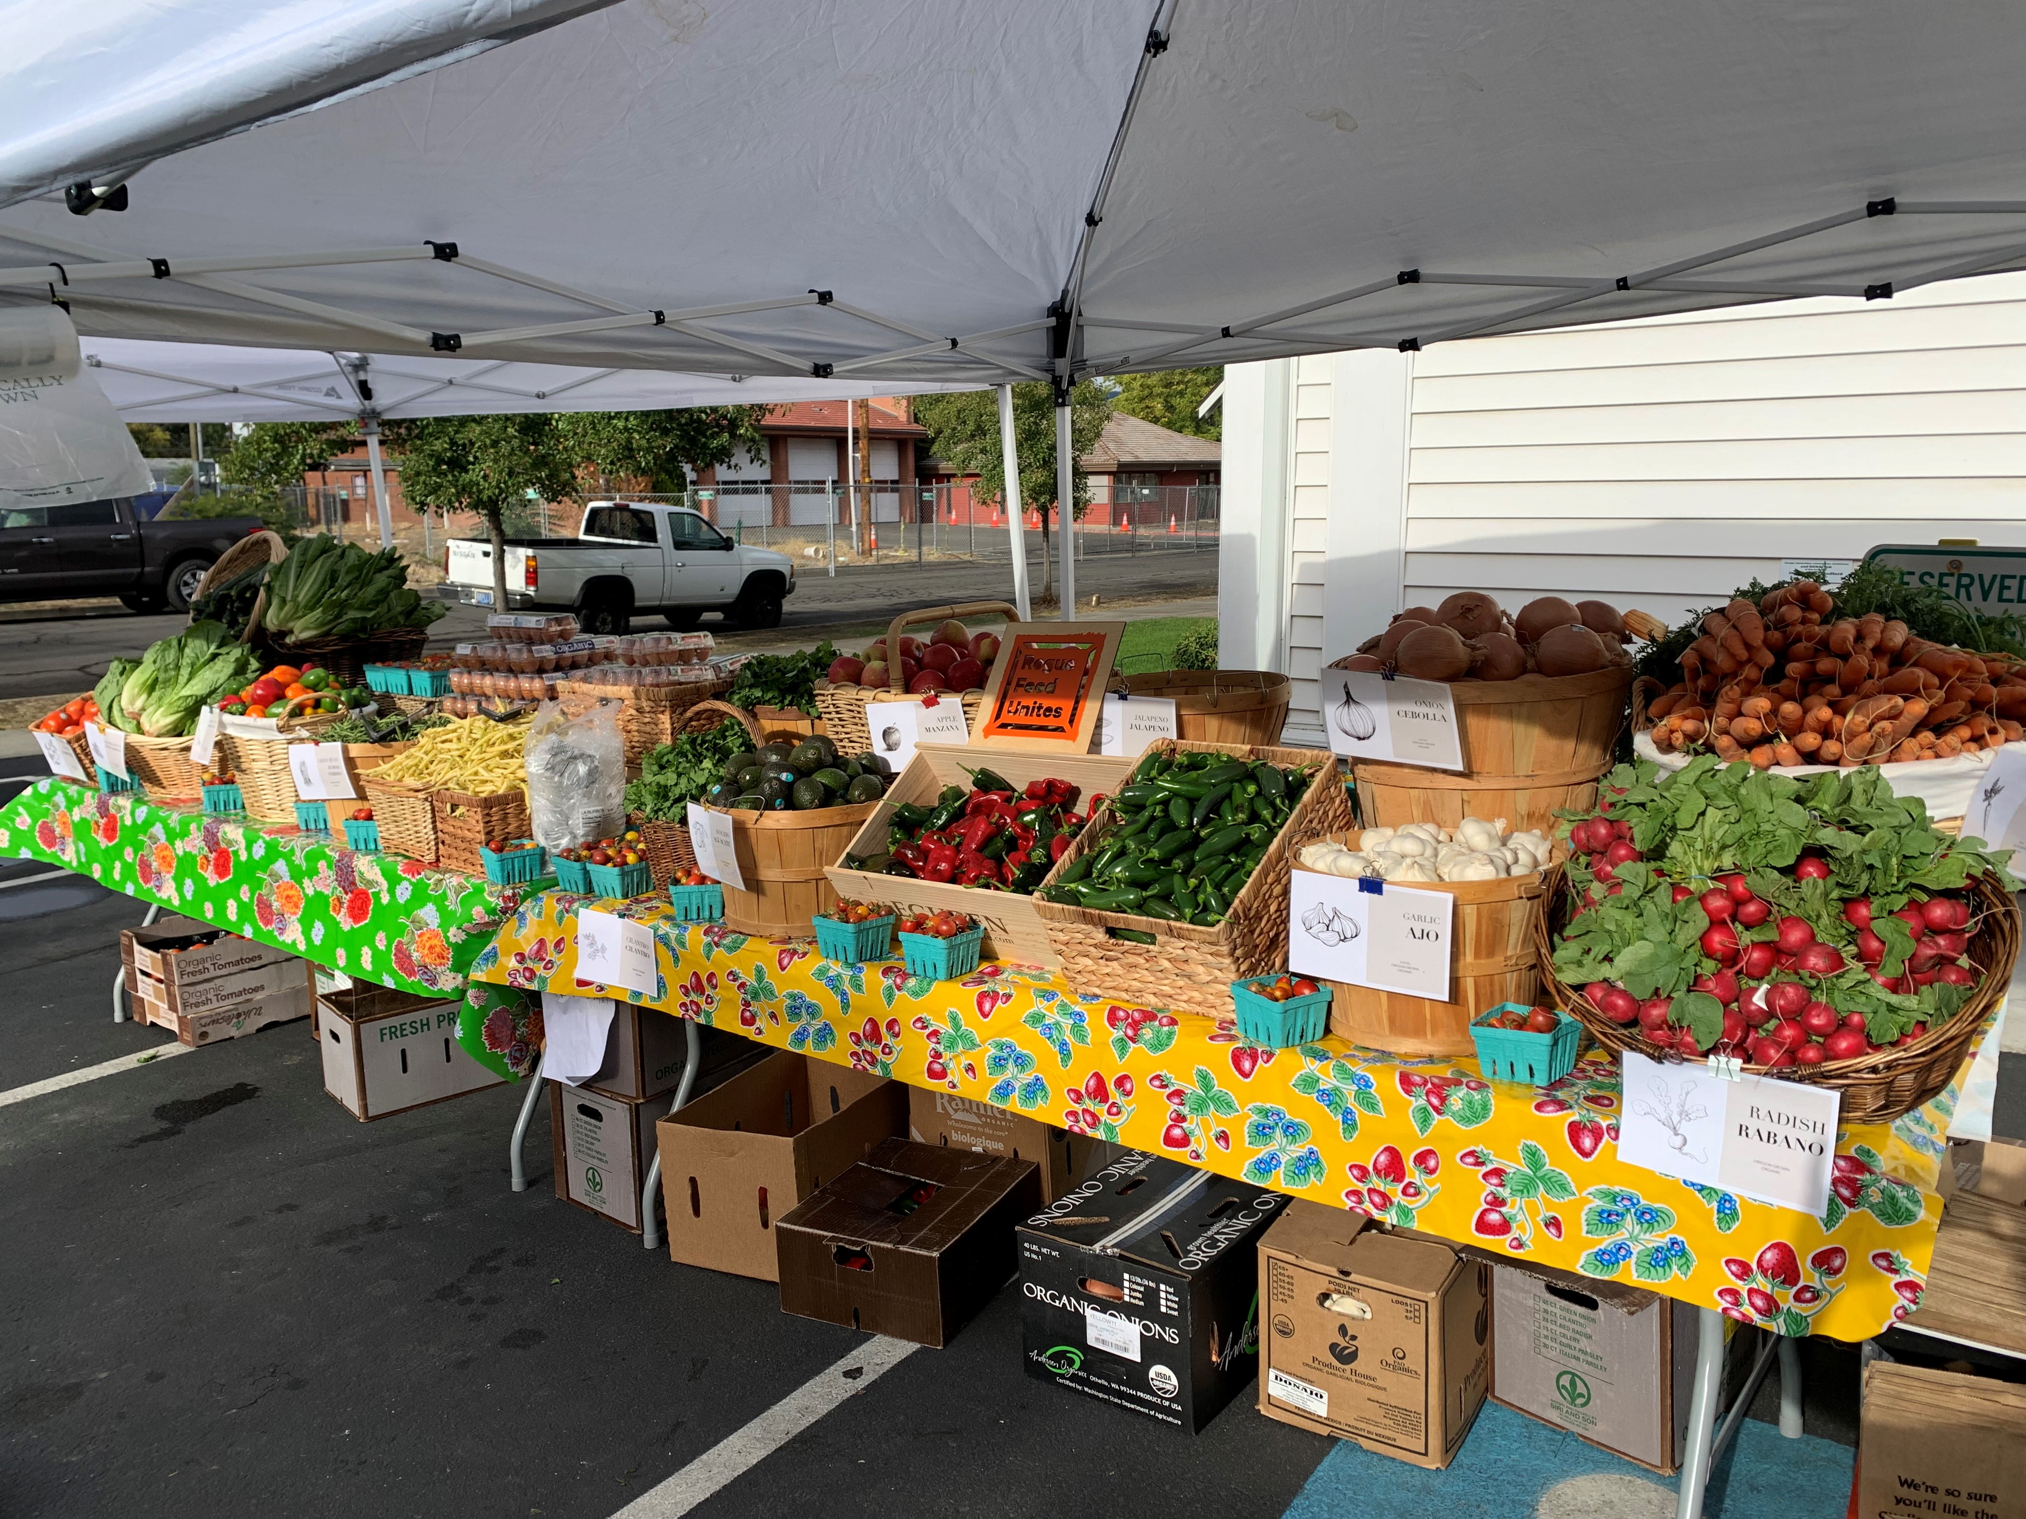
M 1688 1450 L 1694 1377 L 1692 1302 L 1548 1266 L 1491 1266 L 1491 1402 L 1671 1476 Z

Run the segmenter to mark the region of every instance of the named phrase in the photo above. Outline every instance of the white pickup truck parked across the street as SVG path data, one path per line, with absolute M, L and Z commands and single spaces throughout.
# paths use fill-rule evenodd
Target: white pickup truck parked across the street
M 695 628 L 713 610 L 742 628 L 778 628 L 792 591 L 788 555 L 733 543 L 687 506 L 594 500 L 573 539 L 506 539 L 506 606 L 498 610 L 575 612 L 583 632 L 600 634 L 622 634 L 646 614 Z M 492 606 L 492 545 L 448 543 L 440 593 Z

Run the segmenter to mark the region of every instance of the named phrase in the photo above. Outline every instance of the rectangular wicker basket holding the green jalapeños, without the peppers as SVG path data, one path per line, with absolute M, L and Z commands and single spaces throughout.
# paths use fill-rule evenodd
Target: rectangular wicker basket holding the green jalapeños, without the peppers
M 1216 928 L 1169 924 L 1135 913 L 1108 913 L 1035 897 L 1049 944 L 1062 960 L 1064 976 L 1084 990 L 1108 990 L 1147 1007 L 1222 1017 L 1232 1005 L 1232 982 L 1278 970 L 1287 964 L 1287 877 L 1295 838 L 1349 832 L 1351 802 L 1343 790 L 1343 766 L 1323 749 L 1278 749 L 1252 743 L 1189 743 L 1161 739 L 1155 753 L 1210 751 L 1274 766 L 1317 766 L 1315 778 L 1280 826 L 1260 867 L 1252 871 L 1224 922 Z M 1143 757 L 1143 764 L 1145 764 Z M 1090 849 L 1102 849 L 1112 808 L 1106 802 L 1092 826 L 1072 843 L 1049 879 Z M 1045 885 L 1045 883 L 1043 883 Z M 1147 934 L 1153 944 L 1120 940 L 1112 930 Z

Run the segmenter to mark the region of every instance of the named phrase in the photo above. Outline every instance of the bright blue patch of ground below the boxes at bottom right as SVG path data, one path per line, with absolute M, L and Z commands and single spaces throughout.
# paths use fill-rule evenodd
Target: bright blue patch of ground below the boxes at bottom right
M 1744 1420 L 1710 1476 L 1704 1519 L 1844 1519 L 1854 1454 Z M 1673 1519 L 1673 1499 L 1676 1478 L 1485 1404 L 1447 1470 L 1339 1440 L 1284 1519 Z

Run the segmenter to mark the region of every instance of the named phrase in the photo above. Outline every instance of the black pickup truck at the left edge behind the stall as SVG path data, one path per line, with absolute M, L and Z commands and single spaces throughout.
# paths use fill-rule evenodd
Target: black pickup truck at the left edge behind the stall
M 184 612 L 213 561 L 257 516 L 140 521 L 126 496 L 0 510 L 0 602 L 118 595 L 130 612 Z

